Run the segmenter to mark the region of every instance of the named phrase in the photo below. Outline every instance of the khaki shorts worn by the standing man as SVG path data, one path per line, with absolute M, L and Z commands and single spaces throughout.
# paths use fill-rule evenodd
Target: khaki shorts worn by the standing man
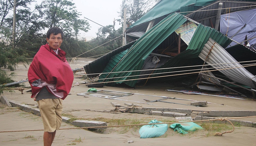
M 62 122 L 62 99 L 42 99 L 37 103 L 45 132 L 59 130 Z

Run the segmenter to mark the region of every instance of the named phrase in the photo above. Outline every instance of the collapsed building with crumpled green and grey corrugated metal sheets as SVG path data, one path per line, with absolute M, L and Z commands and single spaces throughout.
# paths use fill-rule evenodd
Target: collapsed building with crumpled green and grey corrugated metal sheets
M 193 85 L 201 89 L 256 91 L 255 12 L 255 0 L 161 0 L 125 31 L 129 43 L 85 71 L 106 86 L 196 74 Z

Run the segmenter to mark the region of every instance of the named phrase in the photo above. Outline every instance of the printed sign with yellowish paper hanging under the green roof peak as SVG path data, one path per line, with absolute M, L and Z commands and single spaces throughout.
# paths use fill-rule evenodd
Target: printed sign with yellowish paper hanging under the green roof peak
M 194 22 L 188 22 L 182 24 L 178 29 L 175 30 L 177 34 L 181 34 L 181 39 L 188 45 L 196 31 L 196 24 Z

